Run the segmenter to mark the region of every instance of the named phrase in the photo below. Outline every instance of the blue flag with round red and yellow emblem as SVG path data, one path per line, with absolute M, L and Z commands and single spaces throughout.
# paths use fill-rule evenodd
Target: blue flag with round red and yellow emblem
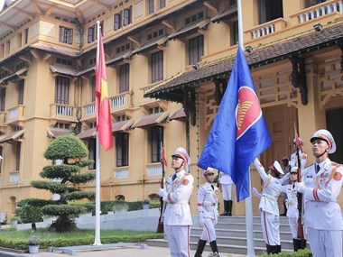
M 237 201 L 249 196 L 249 166 L 271 144 L 246 57 L 238 47 L 234 68 L 198 166 L 221 170 L 236 185 Z

